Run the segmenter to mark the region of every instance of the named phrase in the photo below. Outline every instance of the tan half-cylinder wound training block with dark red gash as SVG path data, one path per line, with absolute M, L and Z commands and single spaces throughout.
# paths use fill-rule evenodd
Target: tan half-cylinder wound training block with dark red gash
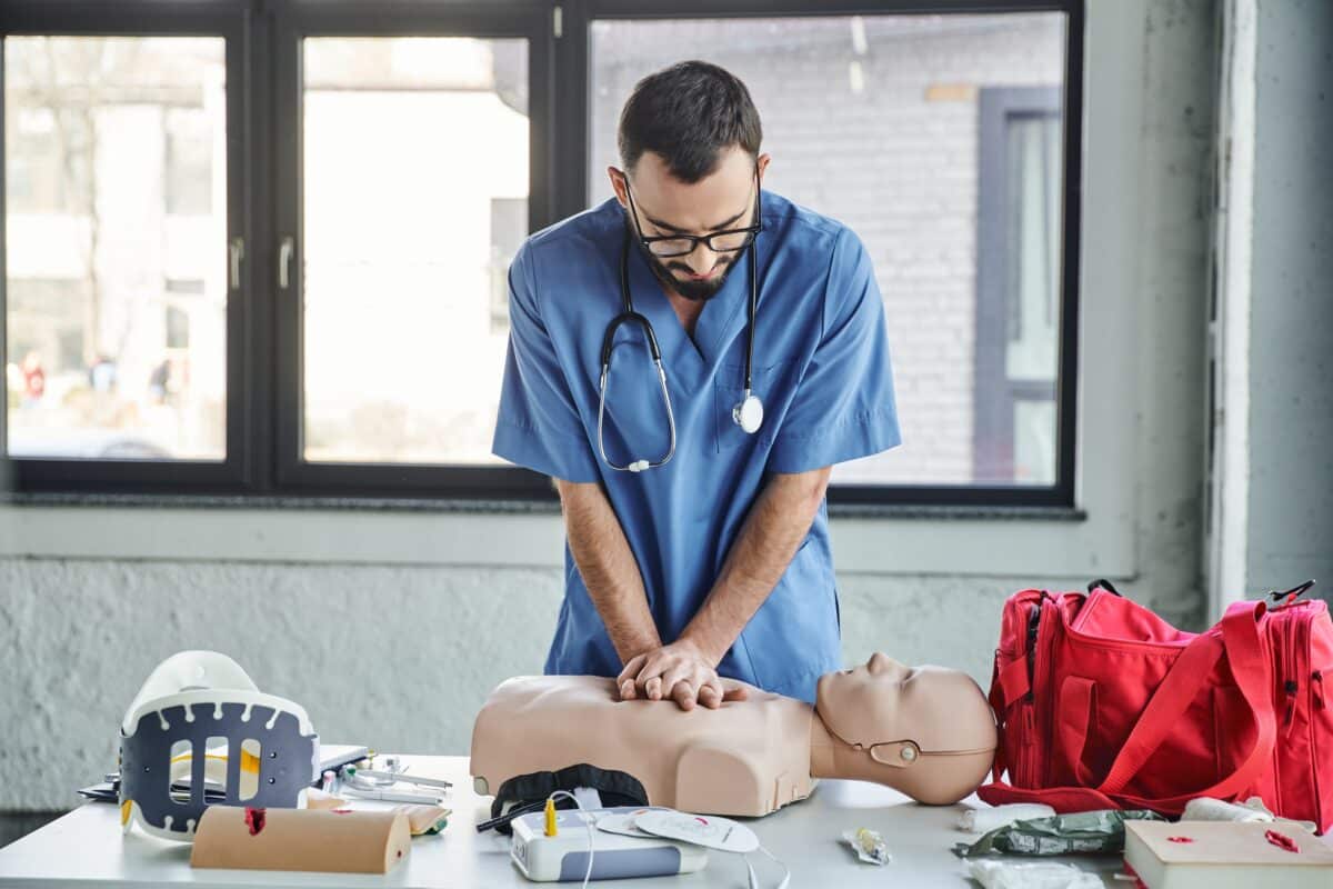
M 195 832 L 193 868 L 388 873 L 412 836 L 401 812 L 212 805 Z

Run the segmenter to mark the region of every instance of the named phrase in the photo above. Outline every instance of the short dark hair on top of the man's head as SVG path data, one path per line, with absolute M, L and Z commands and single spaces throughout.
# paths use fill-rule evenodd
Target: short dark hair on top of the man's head
M 620 163 L 625 171 L 651 151 L 686 184 L 712 173 L 717 156 L 732 145 L 758 157 L 762 139 L 758 109 L 745 84 L 706 61 L 680 61 L 648 75 L 620 112 Z

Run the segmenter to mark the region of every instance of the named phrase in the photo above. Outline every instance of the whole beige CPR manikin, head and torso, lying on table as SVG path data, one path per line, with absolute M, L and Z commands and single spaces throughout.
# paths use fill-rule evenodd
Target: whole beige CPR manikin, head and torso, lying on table
M 994 754 L 990 706 L 958 670 L 877 653 L 822 676 L 813 708 L 744 688 L 744 700 L 681 710 L 621 701 L 612 678 L 508 680 L 473 726 L 476 789 L 587 762 L 633 776 L 651 805 L 685 812 L 768 814 L 809 796 L 816 778 L 874 781 L 944 805 L 972 793 Z

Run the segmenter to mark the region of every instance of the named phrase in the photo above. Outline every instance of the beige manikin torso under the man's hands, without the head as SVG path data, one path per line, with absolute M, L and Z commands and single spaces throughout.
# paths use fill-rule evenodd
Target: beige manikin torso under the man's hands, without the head
M 472 774 L 485 782 L 477 790 L 495 793 L 515 774 L 589 762 L 633 774 L 649 802 L 685 812 L 766 814 L 804 800 L 814 784 L 812 708 L 745 688 L 745 701 L 682 712 L 672 701 L 621 701 L 611 678 L 508 680 L 473 729 Z

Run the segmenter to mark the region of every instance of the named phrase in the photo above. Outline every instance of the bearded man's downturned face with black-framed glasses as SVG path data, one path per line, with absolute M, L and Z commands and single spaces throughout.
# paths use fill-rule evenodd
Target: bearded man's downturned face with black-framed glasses
M 768 167 L 768 155 L 760 155 L 760 177 Z M 717 168 L 697 183 L 673 177 L 660 155 L 644 152 L 629 172 L 629 189 L 637 211 L 639 231 L 644 237 L 672 235 L 709 235 L 716 231 L 745 228 L 754 223 L 756 161 L 740 147 L 725 151 Z M 624 173 L 609 168 L 616 197 L 625 209 L 627 224 L 637 244 L 633 220 L 629 219 L 631 196 Z M 708 300 L 726 281 L 745 251 L 714 253 L 698 244 L 685 256 L 656 257 L 645 255 L 653 275 L 664 287 L 688 300 Z

